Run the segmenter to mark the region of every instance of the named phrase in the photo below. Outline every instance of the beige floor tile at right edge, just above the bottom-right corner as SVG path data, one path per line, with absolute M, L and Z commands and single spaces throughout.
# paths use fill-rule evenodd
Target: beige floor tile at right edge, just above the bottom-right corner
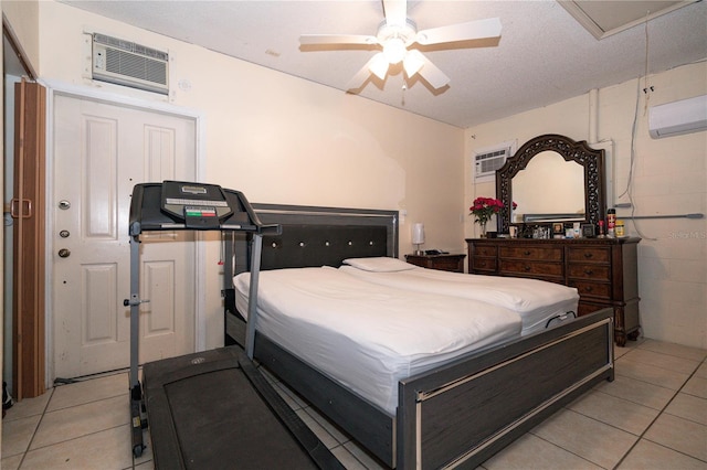
M 648 428 L 644 438 L 707 461 L 707 426 L 662 414 Z

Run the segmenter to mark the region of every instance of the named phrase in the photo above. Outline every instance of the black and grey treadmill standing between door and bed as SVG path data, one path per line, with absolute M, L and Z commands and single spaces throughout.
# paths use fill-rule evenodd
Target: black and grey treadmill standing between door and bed
M 135 185 L 130 202 L 130 417 L 133 453 L 150 428 L 156 468 L 342 469 L 252 362 L 257 276 L 265 225 L 243 195 L 215 184 L 163 181 Z M 221 348 L 147 363 L 138 378 L 140 235 L 160 231 L 243 232 L 252 244 L 245 350 Z M 146 416 L 145 416 L 146 415 Z

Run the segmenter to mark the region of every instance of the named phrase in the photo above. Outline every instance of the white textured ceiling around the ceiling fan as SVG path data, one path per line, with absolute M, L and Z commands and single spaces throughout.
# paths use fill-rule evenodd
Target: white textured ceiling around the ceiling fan
M 299 35 L 374 35 L 383 19 L 381 2 L 369 0 L 62 2 L 342 93 L 374 52 L 303 51 Z M 365 98 L 462 128 L 641 77 L 646 68 L 652 74 L 707 57 L 707 2 L 686 2 L 602 40 L 553 0 L 410 1 L 408 17 L 419 30 L 500 19 L 500 41 L 490 45 L 469 42 L 423 50 L 451 78 L 449 87 L 434 90 L 412 79 L 403 90 L 401 70 L 392 70 L 386 81 L 373 77 L 360 92 Z

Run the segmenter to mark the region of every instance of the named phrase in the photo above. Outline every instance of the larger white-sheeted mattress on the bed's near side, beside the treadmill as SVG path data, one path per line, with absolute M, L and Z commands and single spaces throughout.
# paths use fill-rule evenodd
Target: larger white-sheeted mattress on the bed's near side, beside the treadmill
M 250 274 L 234 278 L 247 312 Z M 261 271 L 255 328 L 391 416 L 398 382 L 518 338 L 520 317 L 479 300 L 376 286 L 330 267 Z

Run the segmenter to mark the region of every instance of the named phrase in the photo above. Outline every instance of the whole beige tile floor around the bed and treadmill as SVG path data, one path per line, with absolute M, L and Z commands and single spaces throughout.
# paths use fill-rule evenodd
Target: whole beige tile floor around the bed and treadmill
M 707 351 L 653 340 L 616 348 L 616 378 L 559 410 L 482 468 L 707 469 Z M 279 384 L 278 384 L 279 387 Z M 381 469 L 281 387 L 348 469 Z M 2 469 L 154 468 L 130 448 L 127 373 L 62 385 L 2 420 Z

